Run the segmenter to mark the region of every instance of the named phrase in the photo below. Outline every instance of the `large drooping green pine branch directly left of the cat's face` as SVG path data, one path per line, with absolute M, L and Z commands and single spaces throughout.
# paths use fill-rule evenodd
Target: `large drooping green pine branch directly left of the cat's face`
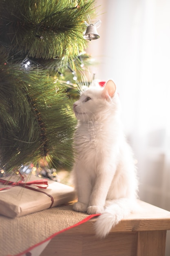
M 7 171 L 46 155 L 73 160 L 75 118 L 66 92 L 42 68 L 28 69 L 0 65 L 0 168 Z

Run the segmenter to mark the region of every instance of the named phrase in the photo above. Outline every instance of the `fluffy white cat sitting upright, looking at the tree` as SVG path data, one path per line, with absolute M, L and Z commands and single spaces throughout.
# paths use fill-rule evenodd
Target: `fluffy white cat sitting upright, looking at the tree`
M 95 222 L 98 237 L 135 207 L 138 181 L 132 151 L 120 121 L 116 85 L 90 86 L 73 104 L 78 119 L 73 174 L 78 202 L 75 211 L 102 213 Z

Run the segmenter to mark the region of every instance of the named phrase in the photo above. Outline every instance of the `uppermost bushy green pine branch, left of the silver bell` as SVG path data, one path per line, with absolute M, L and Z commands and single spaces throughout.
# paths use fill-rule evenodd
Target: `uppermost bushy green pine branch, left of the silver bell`
M 76 6 L 76 2 L 78 5 Z M 14 53 L 66 62 L 86 47 L 84 20 L 94 0 L 0 0 L 0 40 Z

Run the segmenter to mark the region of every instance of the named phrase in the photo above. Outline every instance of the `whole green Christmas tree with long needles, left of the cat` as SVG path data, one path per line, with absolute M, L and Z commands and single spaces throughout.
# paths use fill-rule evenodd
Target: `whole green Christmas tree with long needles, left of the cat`
M 0 170 L 71 162 L 93 0 L 0 0 Z

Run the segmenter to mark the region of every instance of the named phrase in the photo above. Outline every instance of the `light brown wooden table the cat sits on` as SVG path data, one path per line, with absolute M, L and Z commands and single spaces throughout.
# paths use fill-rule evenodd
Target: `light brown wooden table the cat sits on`
M 97 239 L 95 219 L 55 236 L 41 256 L 164 256 L 170 212 L 139 201 L 133 213 L 113 228 L 105 239 Z

